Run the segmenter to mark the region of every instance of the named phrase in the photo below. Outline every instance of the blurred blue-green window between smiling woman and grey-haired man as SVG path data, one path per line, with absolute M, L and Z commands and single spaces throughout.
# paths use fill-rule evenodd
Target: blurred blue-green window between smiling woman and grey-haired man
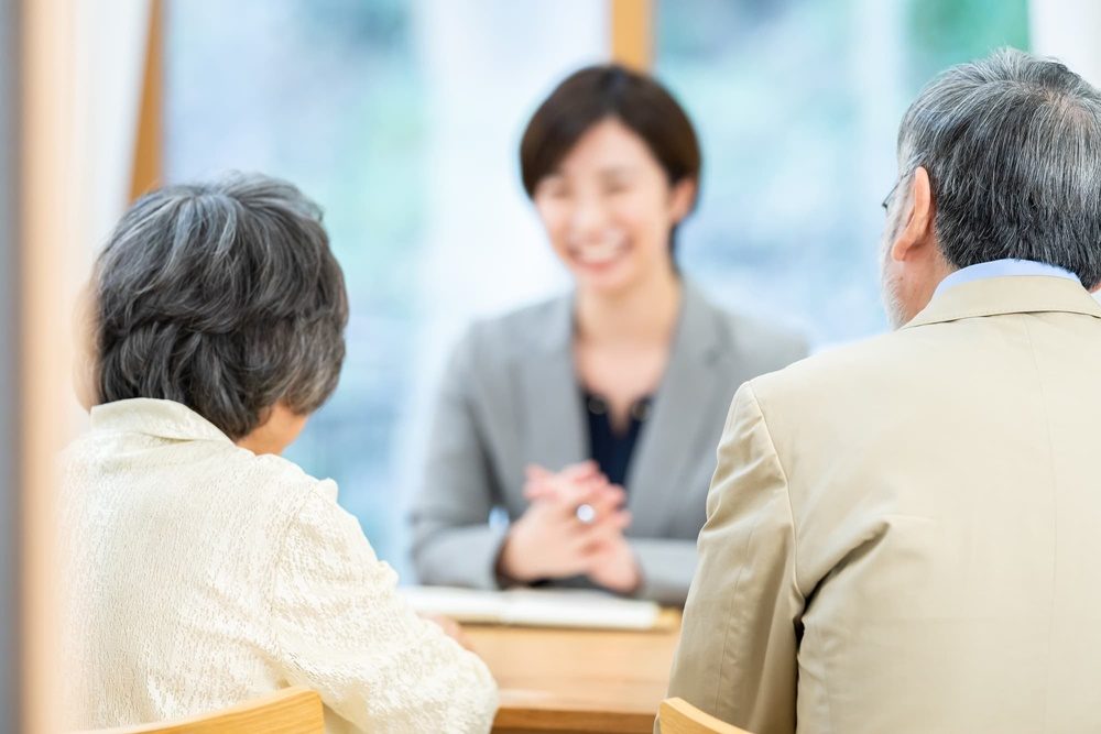
M 884 196 L 909 100 L 1027 44 L 1026 0 L 662 0 L 656 73 L 696 121 L 685 271 L 824 347 L 880 331 Z

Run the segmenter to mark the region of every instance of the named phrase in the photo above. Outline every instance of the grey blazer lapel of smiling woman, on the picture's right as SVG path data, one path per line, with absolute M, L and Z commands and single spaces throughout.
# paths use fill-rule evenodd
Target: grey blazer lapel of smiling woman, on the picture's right
M 628 469 L 632 535 L 662 535 L 669 507 L 683 494 L 697 434 L 708 428 L 700 416 L 707 415 L 722 376 L 711 368 L 721 350 L 709 305 L 686 283 L 669 363 Z

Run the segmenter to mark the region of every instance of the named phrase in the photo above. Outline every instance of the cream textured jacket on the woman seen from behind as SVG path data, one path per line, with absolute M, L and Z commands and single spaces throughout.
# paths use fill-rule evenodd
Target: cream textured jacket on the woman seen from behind
M 484 664 L 395 592 L 336 485 L 167 401 L 92 409 L 64 460 L 64 711 L 106 727 L 318 691 L 328 732 L 487 732 Z

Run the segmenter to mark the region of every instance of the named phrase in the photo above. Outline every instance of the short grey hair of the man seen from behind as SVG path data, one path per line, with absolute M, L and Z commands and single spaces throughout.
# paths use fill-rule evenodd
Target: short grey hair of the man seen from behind
M 929 172 L 951 265 L 1035 260 L 1101 283 L 1101 95 L 1062 64 L 1003 48 L 953 66 L 906 111 L 898 157 Z

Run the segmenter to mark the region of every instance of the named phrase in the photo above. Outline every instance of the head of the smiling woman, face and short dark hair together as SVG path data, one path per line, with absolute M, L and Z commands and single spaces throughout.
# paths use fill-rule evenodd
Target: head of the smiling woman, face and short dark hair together
M 524 188 L 574 277 L 613 291 L 640 275 L 674 284 L 674 233 L 696 200 L 700 152 L 688 117 L 659 85 L 617 66 L 574 74 L 535 112 L 520 160 Z

